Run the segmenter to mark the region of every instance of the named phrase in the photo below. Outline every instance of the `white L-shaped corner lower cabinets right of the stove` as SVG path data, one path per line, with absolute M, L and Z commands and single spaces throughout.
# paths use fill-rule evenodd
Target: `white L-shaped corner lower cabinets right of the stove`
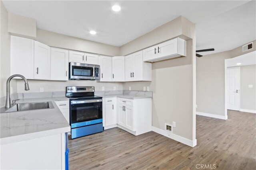
M 152 98 L 105 98 L 103 107 L 104 129 L 117 126 L 133 135 L 152 130 Z

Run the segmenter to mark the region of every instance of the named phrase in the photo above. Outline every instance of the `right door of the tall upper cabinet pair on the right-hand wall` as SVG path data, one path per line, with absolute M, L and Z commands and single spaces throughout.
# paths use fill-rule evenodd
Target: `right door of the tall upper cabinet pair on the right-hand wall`
M 143 80 L 143 55 L 142 51 L 138 51 L 133 54 L 134 68 L 132 71 L 132 77 L 134 81 Z

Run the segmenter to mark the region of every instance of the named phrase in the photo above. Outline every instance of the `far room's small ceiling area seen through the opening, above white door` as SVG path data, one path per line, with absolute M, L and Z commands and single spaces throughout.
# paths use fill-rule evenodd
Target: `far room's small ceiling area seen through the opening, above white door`
M 237 65 L 236 63 L 241 63 Z M 256 51 L 226 60 L 227 67 L 247 66 L 256 64 Z

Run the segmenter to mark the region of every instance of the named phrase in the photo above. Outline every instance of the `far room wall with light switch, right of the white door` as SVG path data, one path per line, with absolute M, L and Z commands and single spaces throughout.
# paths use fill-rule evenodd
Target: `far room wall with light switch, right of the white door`
M 248 85 L 252 84 L 253 88 Z M 256 65 L 240 66 L 240 107 L 256 110 Z

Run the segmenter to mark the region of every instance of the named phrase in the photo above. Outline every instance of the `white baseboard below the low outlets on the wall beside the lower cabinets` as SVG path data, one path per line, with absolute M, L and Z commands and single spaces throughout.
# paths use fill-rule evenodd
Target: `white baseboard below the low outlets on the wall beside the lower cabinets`
M 178 141 L 180 143 L 184 143 L 185 145 L 188 145 L 190 147 L 195 147 L 196 146 L 196 139 L 194 141 L 192 141 L 190 139 L 186 139 L 184 137 L 181 137 L 179 135 L 175 135 L 173 133 L 170 133 L 170 135 L 168 135 L 168 133 L 166 131 L 164 131 L 162 129 L 159 129 L 157 127 L 154 127 L 154 126 L 152 126 L 152 131 L 156 132 L 156 133 L 158 133 L 160 135 L 163 135 L 165 137 L 168 137 L 170 139 L 173 139 L 175 141 Z

